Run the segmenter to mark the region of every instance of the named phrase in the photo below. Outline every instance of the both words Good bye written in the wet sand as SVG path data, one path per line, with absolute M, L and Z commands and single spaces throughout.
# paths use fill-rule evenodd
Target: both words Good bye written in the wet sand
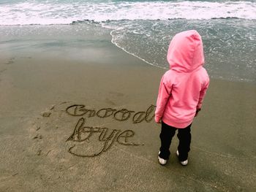
M 86 109 L 85 105 L 72 105 L 67 107 L 66 112 L 72 116 L 86 116 L 87 118 L 95 117 L 98 118 L 109 118 L 112 116 L 114 120 L 124 121 L 129 120 L 132 116 L 132 123 L 141 123 L 145 120 L 147 123 L 151 122 L 154 118 L 155 106 L 151 105 L 148 107 L 146 112 L 135 112 L 132 110 L 121 109 L 116 110 L 112 108 L 102 108 L 100 110 Z M 135 131 L 120 129 L 110 129 L 105 127 L 93 127 L 86 126 L 86 118 L 80 118 L 75 126 L 75 129 L 71 136 L 67 139 L 68 141 L 75 143 L 89 142 L 90 138 L 97 138 L 96 141 L 100 143 L 102 147 L 93 153 L 86 154 L 75 150 L 76 145 L 69 147 L 69 153 L 80 157 L 95 157 L 102 155 L 107 152 L 110 148 L 118 143 L 119 145 L 127 146 L 138 146 L 140 144 L 130 142 L 130 139 L 135 136 Z M 95 142 L 95 141 L 94 141 Z

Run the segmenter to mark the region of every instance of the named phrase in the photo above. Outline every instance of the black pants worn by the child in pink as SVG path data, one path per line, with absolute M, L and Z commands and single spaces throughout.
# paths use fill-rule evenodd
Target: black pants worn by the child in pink
M 170 143 L 175 135 L 176 130 L 178 129 L 178 160 L 179 161 L 186 161 L 188 157 L 188 153 L 190 150 L 190 142 L 191 142 L 191 134 L 190 134 L 190 127 L 192 124 L 187 126 L 186 128 L 175 128 L 172 126 L 168 126 L 162 121 L 162 130 L 160 133 L 161 139 L 161 147 L 160 147 L 160 154 L 159 157 L 163 159 L 169 159 L 170 156 Z

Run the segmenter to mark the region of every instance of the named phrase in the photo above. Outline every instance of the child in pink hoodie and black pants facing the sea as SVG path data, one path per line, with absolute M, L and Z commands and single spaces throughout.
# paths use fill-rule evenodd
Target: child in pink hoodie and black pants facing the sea
M 155 121 L 162 123 L 159 164 L 165 165 L 170 156 L 170 143 L 178 129 L 178 160 L 188 164 L 191 125 L 201 110 L 209 77 L 203 68 L 203 42 L 195 30 L 176 34 L 167 52 L 170 69 L 162 76 L 157 97 Z

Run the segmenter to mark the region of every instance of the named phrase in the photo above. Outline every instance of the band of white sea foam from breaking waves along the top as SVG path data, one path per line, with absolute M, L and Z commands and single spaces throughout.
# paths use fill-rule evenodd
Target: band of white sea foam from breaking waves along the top
M 77 20 L 256 19 L 254 1 L 74 2 L 0 4 L 0 25 L 69 24 Z

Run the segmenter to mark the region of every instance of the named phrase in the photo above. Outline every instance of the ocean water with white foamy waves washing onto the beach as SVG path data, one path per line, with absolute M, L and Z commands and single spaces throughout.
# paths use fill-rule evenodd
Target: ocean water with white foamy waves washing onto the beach
M 256 0 L 0 0 L 0 46 L 1 36 L 31 33 L 23 30 L 31 25 L 48 26 L 49 35 L 71 26 L 80 39 L 83 25 L 105 28 L 114 45 L 164 69 L 172 37 L 196 29 L 211 77 L 256 82 Z

